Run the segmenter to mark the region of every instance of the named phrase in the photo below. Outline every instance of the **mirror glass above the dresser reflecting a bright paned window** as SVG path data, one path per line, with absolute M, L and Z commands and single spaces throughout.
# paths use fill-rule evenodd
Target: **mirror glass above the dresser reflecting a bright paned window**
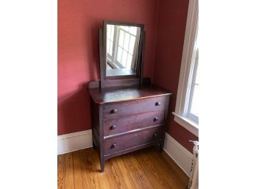
M 106 76 L 135 75 L 141 28 L 107 24 Z

